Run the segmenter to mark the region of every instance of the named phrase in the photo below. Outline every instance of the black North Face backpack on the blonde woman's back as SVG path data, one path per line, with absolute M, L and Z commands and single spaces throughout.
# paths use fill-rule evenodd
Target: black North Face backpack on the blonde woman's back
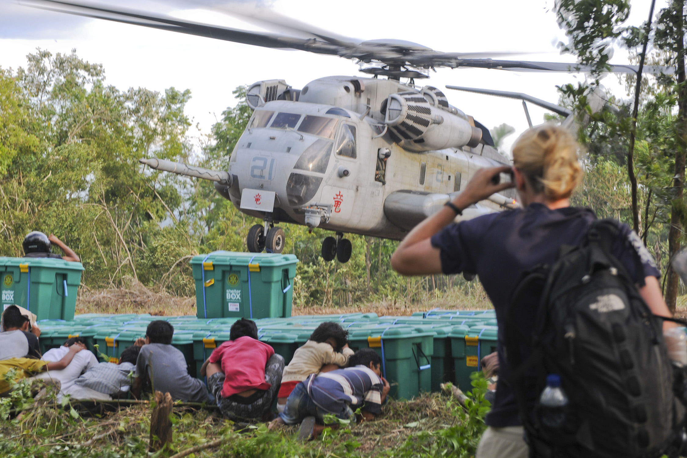
M 594 222 L 580 247 L 561 247 L 553 266 L 523 275 L 513 293 L 506 383 L 530 458 L 677 457 L 682 448 L 684 388 L 674 389 L 684 382 L 682 372 L 666 354 L 662 319 L 610 254 L 617 233 L 612 220 Z M 518 326 L 523 299 L 539 300 L 531 335 Z M 539 394 L 548 374 L 559 374 L 569 400 L 559 428 L 541 421 Z

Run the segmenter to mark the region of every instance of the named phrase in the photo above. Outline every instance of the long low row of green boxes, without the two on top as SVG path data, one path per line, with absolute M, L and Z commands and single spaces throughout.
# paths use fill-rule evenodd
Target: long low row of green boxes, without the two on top
M 491 313 L 427 314 L 427 318 L 377 317 L 376 314 L 341 314 L 256 319 L 260 341 L 271 345 L 289 363 L 317 325 L 340 323 L 349 332 L 353 350 L 372 348 L 382 358 L 383 375 L 392 384 L 391 396 L 409 399 L 425 391 L 438 391 L 453 382 L 471 389 L 470 374 L 479 360 L 496 351 L 497 327 Z M 458 318 L 457 318 L 458 317 Z M 63 345 L 73 336 L 87 340 L 89 350 L 116 361 L 122 350 L 146 334 L 146 326 L 164 319 L 174 326 L 172 345 L 183 353 L 190 374 L 201 378 L 200 368 L 212 351 L 229 341 L 237 318 L 155 317 L 149 314 L 77 315 L 74 321 L 41 320 L 41 349 Z

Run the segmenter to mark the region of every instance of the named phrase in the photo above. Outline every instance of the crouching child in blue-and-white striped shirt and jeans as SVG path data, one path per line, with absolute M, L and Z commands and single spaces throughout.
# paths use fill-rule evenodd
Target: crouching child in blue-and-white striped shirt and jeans
M 381 376 L 381 358 L 364 348 L 350 356 L 346 369 L 311 374 L 296 385 L 284 412 L 270 426 L 300 422 L 299 438 L 313 439 L 322 432 L 327 414 L 350 422 L 374 420 L 389 390 Z

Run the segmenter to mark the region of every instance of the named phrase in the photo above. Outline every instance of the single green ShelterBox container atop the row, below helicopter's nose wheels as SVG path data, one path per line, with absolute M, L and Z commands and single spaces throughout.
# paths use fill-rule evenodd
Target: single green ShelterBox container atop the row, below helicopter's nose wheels
M 295 255 L 215 251 L 191 260 L 197 316 L 291 317 Z

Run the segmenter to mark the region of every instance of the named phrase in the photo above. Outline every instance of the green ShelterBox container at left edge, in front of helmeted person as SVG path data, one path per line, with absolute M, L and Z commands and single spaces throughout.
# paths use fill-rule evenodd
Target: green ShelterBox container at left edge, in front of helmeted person
M 12 304 L 39 320 L 74 319 L 76 294 L 84 267 L 50 257 L 0 257 L 0 304 Z

